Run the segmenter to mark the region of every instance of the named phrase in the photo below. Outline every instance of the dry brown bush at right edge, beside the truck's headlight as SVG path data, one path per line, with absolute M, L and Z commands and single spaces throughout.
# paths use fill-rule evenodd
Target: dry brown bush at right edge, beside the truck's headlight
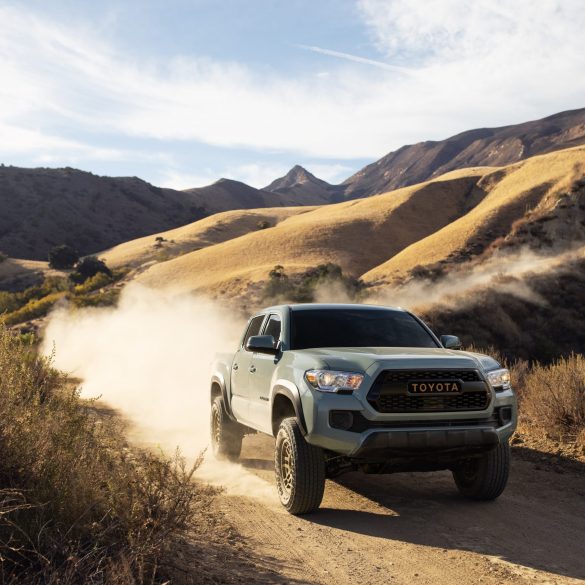
M 585 356 L 533 365 L 520 381 L 519 397 L 535 426 L 549 434 L 585 439 Z

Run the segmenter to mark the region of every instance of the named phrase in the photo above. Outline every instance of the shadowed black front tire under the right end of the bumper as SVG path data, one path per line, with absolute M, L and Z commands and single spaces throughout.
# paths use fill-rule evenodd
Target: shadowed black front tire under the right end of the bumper
M 471 500 L 495 500 L 506 487 L 510 472 L 510 445 L 500 443 L 477 459 L 453 470 L 459 492 Z

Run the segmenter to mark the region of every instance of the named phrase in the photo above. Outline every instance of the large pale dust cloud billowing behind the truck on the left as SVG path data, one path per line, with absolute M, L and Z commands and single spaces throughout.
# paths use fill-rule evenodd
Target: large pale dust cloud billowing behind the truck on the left
M 216 352 L 233 352 L 243 316 L 192 295 L 131 284 L 116 308 L 57 309 L 43 351 L 82 380 L 82 396 L 100 397 L 131 423 L 134 442 L 193 460 L 209 443 L 209 385 Z M 209 452 L 198 476 L 228 492 L 272 495 L 240 465 Z

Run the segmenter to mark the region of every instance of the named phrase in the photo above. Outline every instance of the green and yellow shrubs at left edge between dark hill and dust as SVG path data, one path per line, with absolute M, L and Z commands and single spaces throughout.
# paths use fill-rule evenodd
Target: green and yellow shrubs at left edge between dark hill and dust
M 13 326 L 44 317 L 64 301 L 74 307 L 115 305 L 120 291 L 111 285 L 124 274 L 122 270 L 112 272 L 102 260 L 88 256 L 76 263 L 69 277 L 50 276 L 20 292 L 0 291 L 0 323 Z

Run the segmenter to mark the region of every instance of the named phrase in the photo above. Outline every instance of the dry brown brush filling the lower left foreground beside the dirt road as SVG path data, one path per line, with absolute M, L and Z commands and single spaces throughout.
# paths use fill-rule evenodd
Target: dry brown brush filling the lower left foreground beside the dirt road
M 161 582 L 209 505 L 198 463 L 129 449 L 115 417 L 0 326 L 0 583 Z

